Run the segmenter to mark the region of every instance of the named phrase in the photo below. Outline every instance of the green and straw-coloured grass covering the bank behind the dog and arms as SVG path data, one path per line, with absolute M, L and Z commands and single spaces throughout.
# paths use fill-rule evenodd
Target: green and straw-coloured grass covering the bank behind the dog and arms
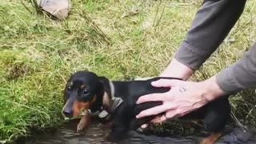
M 62 90 L 76 70 L 110 79 L 156 76 L 182 42 L 200 2 L 73 1 L 63 22 L 36 14 L 30 2 L 0 6 L 0 141 L 62 121 Z M 134 6 L 141 8 L 128 15 Z M 202 80 L 235 62 L 256 42 L 256 2 L 246 10 L 220 49 L 198 71 Z M 254 93 L 231 98 L 234 114 L 254 122 Z

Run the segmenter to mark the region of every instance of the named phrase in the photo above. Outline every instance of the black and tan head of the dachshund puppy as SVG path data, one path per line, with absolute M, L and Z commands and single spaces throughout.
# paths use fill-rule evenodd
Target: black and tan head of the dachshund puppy
M 96 112 L 102 107 L 104 77 L 89 71 L 78 71 L 71 75 L 64 90 L 62 113 L 68 117 L 77 117 L 82 110 Z

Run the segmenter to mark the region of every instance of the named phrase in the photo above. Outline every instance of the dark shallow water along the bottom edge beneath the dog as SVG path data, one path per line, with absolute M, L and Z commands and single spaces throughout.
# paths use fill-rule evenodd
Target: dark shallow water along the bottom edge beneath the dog
M 91 125 L 81 134 L 75 132 L 76 123 L 70 123 L 68 125 L 58 128 L 54 133 L 51 134 L 41 134 L 34 136 L 34 138 L 22 142 L 24 144 L 112 144 L 105 140 L 105 136 L 108 130 L 102 126 L 99 122 L 91 123 Z M 137 132 L 131 131 L 129 138 L 124 140 L 123 144 L 176 144 L 176 143 L 186 143 L 194 144 L 198 143 L 201 138 L 196 136 L 188 137 L 158 137 L 154 135 L 138 134 Z M 255 144 L 256 134 L 252 130 L 244 132 L 241 128 L 233 128 L 230 133 L 223 136 L 218 142 L 218 144 Z M 21 142 L 18 142 L 21 144 Z

